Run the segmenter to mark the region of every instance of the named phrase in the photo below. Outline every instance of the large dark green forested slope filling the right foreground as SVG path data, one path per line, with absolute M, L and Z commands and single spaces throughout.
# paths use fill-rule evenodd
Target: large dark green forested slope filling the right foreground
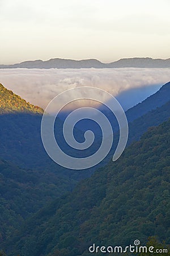
M 145 245 L 149 236 L 169 243 L 169 138 L 170 119 L 29 218 L 2 247 L 8 255 L 87 256 L 94 243 Z

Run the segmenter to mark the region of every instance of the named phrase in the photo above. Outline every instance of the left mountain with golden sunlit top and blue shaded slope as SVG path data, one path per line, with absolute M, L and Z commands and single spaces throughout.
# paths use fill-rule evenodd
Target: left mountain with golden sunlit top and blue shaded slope
M 44 150 L 41 141 L 43 113 L 39 106 L 29 104 L 0 84 L 0 157 L 24 168 L 41 169 L 50 165 L 50 168 L 64 173 L 66 170 L 55 164 Z M 57 118 L 57 136 L 62 125 Z

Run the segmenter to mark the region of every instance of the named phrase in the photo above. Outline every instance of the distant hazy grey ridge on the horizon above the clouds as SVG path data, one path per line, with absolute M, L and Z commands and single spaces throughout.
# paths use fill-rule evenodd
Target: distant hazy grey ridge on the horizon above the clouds
M 0 65 L 0 68 L 170 68 L 169 59 L 152 59 L 150 57 L 134 57 L 120 59 L 112 63 L 101 63 L 96 59 L 70 60 L 50 59 L 23 61 L 11 65 Z

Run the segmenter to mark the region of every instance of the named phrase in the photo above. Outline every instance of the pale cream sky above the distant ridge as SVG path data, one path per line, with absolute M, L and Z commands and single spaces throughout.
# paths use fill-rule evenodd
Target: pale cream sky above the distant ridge
M 0 0 L 0 64 L 170 57 L 169 0 Z

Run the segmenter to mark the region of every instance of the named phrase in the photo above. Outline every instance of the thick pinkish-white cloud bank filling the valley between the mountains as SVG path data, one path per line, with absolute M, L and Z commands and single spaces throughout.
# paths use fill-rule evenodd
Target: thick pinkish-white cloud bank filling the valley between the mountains
M 57 94 L 78 86 L 107 90 L 120 98 L 120 103 L 125 108 L 130 108 L 168 82 L 169 77 L 170 69 L 165 68 L 0 69 L 1 84 L 31 104 L 44 109 Z M 138 95 L 129 98 L 129 94 L 124 92 L 130 90 Z M 121 97 L 122 94 L 125 94 L 124 97 Z M 78 105 L 82 103 L 79 102 Z

